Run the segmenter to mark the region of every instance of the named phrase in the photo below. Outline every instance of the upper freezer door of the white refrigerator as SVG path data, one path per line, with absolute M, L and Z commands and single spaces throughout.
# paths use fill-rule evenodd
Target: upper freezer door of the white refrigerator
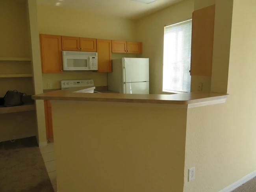
M 149 81 L 148 58 L 123 58 L 122 82 Z

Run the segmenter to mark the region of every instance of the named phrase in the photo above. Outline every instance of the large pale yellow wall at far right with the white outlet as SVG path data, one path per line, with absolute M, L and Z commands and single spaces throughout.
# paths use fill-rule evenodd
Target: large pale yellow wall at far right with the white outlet
M 256 45 L 252 43 L 256 42 L 256 26 L 250 19 L 256 17 L 256 2 L 234 0 L 233 10 L 232 3 L 216 0 L 216 17 L 228 20 L 230 27 L 232 22 L 231 43 L 228 39 L 223 44 L 214 40 L 214 52 L 224 47 L 221 58 L 228 67 L 225 88 L 230 97 L 223 104 L 188 110 L 184 192 L 217 192 L 256 170 Z M 219 89 L 223 84 L 219 83 Z M 187 170 L 193 166 L 196 179 L 187 182 Z

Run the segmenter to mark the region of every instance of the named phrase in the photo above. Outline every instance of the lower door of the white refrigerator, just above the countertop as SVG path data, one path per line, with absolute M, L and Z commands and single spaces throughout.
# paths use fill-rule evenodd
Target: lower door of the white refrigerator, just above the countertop
M 124 83 L 126 94 L 149 94 L 149 82 Z

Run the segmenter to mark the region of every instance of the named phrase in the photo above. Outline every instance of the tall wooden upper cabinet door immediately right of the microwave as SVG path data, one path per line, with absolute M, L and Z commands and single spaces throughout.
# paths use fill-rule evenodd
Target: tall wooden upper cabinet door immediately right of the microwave
M 98 72 L 111 72 L 111 40 L 97 39 Z

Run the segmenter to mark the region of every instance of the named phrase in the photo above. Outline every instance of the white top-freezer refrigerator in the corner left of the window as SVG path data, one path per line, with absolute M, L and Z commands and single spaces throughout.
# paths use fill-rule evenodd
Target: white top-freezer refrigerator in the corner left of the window
M 149 94 L 149 59 L 113 59 L 108 89 L 126 94 Z

